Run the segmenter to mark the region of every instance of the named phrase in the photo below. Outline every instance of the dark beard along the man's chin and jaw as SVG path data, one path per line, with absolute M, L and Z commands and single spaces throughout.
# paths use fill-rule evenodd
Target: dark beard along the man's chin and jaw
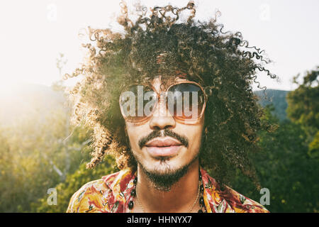
M 165 165 L 164 170 L 147 170 L 144 165 L 135 157 L 135 160 L 138 162 L 138 166 L 145 173 L 147 179 L 150 180 L 152 187 L 162 192 L 169 192 L 172 189 L 172 186 L 176 184 L 181 177 L 184 177 L 189 170 L 189 167 L 198 159 L 198 154 L 184 166 L 173 170 L 172 167 L 167 163 L 169 158 L 163 158 L 160 160 L 160 165 Z

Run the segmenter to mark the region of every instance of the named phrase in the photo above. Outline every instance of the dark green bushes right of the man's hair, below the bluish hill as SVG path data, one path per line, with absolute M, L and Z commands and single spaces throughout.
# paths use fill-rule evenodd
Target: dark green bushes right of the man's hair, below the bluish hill
M 266 109 L 264 121 L 279 123 Z M 291 121 L 279 123 L 274 133 L 261 133 L 262 153 L 253 157 L 262 187 L 270 191 L 272 212 L 319 211 L 319 162 L 307 154 L 306 132 Z M 238 172 L 239 173 L 239 172 Z M 259 202 L 259 191 L 244 176 L 235 177 L 234 189 Z

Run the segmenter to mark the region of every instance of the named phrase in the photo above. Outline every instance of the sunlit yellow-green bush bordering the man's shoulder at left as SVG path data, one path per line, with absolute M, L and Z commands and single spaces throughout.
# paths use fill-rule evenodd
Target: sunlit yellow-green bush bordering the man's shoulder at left
M 115 171 L 113 166 L 114 160 L 112 157 L 106 157 L 104 162 L 98 165 L 94 170 L 87 170 L 85 164 L 80 165 L 79 170 L 73 174 L 67 175 L 65 182 L 57 184 L 57 205 L 49 205 L 47 203 L 47 196 L 39 199 L 38 202 L 31 205 L 33 212 L 54 212 L 64 213 L 67 211 L 69 200 L 74 192 L 82 187 L 87 182 L 91 182 L 96 179 L 101 179 L 104 175 L 111 174 Z

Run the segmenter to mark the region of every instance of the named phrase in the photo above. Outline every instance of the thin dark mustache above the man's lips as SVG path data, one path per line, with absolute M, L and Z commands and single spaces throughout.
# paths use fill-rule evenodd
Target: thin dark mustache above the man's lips
M 140 140 L 138 140 L 138 145 L 140 146 L 140 149 L 142 149 L 142 147 L 144 147 L 145 144 L 148 141 L 150 141 L 150 140 L 152 140 L 154 138 L 157 138 L 157 137 L 161 137 L 162 136 L 162 132 L 161 131 L 162 130 L 154 130 L 149 135 L 146 135 L 145 137 L 140 138 Z M 183 135 L 179 135 L 177 133 L 174 133 L 174 131 L 172 131 L 172 130 L 170 130 L 168 128 L 164 129 L 164 136 L 172 137 L 172 138 L 178 140 L 186 148 L 189 147 L 189 139 L 188 138 L 186 138 Z

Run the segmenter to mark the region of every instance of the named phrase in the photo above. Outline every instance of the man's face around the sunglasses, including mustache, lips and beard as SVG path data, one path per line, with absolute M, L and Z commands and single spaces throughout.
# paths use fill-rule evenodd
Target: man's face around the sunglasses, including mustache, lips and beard
M 177 78 L 175 81 L 179 80 L 186 79 Z M 161 77 L 156 77 L 152 86 L 158 93 L 165 92 L 161 89 L 161 84 L 164 83 Z M 204 116 L 192 124 L 179 123 L 168 111 L 166 116 L 159 114 L 160 105 L 164 105 L 162 109 L 167 111 L 165 104 L 159 101 L 155 113 L 147 121 L 125 123 L 131 150 L 142 170 L 150 178 L 155 177 L 155 184 L 156 177 L 162 177 L 167 184 L 169 181 L 173 184 L 186 173 L 187 167 L 197 160 Z M 165 178 L 169 176 L 171 178 Z

